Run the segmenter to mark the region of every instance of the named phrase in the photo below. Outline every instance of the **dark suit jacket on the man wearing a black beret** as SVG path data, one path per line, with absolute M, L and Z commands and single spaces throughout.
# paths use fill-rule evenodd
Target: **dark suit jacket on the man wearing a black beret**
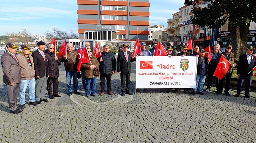
M 45 51 L 43 52 L 45 54 L 45 61 L 42 54 L 38 51 L 38 49 L 32 53 L 34 69 L 35 69 L 35 77 L 37 76 L 44 77 L 49 75 L 47 54 L 45 53 Z

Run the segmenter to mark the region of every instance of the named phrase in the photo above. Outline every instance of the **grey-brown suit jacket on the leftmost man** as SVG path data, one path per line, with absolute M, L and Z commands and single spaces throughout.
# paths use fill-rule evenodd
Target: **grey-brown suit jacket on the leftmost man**
M 21 82 L 20 64 L 15 60 L 14 56 L 6 51 L 1 57 L 1 63 L 4 73 L 4 83 L 11 84 L 13 82 Z

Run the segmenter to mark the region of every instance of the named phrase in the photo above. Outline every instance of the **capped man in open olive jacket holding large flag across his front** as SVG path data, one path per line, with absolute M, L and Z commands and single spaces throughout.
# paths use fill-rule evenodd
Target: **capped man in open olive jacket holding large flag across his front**
M 232 77 L 232 73 L 234 70 L 234 67 L 237 65 L 237 58 L 236 58 L 236 54 L 231 52 L 232 50 L 232 45 L 228 45 L 226 46 L 226 52 L 223 52 L 220 54 L 219 58 L 218 58 L 218 62 L 220 60 L 221 55 L 223 55 L 224 57 L 226 57 L 226 59 L 229 61 L 229 63 L 231 64 L 231 66 L 229 67 L 228 72 L 226 73 L 226 75 L 220 79 L 219 81 L 219 91 L 217 91 L 217 94 L 222 94 L 223 91 L 223 81 L 226 79 L 226 86 L 225 86 L 225 90 L 224 90 L 224 94 L 227 96 L 230 96 L 229 94 L 229 87 L 230 87 L 230 80 Z

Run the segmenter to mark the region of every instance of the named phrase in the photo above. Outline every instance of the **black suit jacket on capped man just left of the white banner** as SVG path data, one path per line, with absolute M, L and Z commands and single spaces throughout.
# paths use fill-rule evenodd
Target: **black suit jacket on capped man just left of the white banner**
M 121 74 L 131 73 L 131 62 L 134 62 L 136 59 L 132 58 L 132 53 L 127 51 L 128 61 L 125 58 L 123 51 L 118 52 L 117 55 L 117 72 Z

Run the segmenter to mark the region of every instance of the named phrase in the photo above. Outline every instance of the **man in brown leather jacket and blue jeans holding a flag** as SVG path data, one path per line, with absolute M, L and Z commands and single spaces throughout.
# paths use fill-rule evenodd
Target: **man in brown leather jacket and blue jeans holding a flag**
M 73 90 L 75 94 L 80 95 L 77 92 L 77 65 L 78 65 L 78 56 L 77 52 L 73 50 L 73 44 L 67 43 L 67 54 L 60 57 L 61 62 L 64 62 L 66 77 L 67 77 L 67 89 L 68 95 L 72 95 L 72 88 L 71 88 L 71 78 L 73 76 Z

